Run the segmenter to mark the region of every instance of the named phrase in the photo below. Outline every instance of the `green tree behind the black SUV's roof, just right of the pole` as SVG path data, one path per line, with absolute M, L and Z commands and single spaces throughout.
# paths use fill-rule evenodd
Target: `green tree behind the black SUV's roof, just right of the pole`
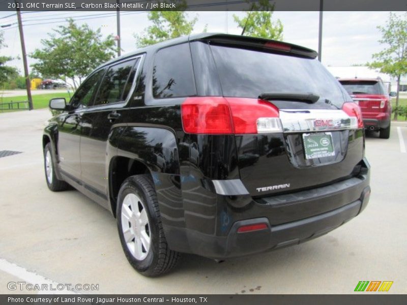
M 177 11 L 151 11 L 149 20 L 153 23 L 141 35 L 134 35 L 137 47 L 149 46 L 161 41 L 191 34 L 197 17 L 187 20 L 185 1 L 177 3 Z

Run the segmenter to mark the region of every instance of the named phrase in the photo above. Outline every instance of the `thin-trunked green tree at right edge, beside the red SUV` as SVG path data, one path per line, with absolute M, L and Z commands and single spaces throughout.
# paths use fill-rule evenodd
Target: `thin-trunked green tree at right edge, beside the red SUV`
M 397 79 L 396 108 L 398 108 L 398 96 L 400 91 L 400 78 L 407 74 L 407 12 L 404 15 L 390 13 L 385 26 L 377 26 L 382 32 L 379 43 L 386 48 L 372 55 L 374 60 L 368 63 L 370 68 L 379 68 L 380 72 L 386 73 Z M 397 119 L 398 112 L 394 113 Z

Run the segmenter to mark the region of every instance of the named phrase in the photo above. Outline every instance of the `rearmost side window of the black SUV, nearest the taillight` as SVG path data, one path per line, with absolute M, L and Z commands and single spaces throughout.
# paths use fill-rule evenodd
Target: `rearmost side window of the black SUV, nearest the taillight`
M 188 44 L 171 46 L 157 52 L 152 87 L 156 99 L 196 95 Z

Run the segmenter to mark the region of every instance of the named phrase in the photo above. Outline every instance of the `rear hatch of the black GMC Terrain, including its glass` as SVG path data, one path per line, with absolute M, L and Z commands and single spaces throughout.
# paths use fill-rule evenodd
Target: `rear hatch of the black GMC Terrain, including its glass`
M 357 173 L 364 149 L 359 108 L 345 103 L 351 98 L 315 52 L 260 39 L 208 43 L 251 196 L 312 189 Z M 276 110 L 277 118 L 259 105 Z M 251 120 L 257 132 L 245 129 Z

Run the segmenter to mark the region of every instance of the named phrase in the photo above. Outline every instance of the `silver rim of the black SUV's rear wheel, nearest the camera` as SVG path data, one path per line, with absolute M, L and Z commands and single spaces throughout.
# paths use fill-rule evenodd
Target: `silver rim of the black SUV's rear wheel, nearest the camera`
M 127 194 L 122 203 L 122 232 L 127 249 L 138 260 L 150 251 L 151 234 L 146 207 L 136 194 Z

